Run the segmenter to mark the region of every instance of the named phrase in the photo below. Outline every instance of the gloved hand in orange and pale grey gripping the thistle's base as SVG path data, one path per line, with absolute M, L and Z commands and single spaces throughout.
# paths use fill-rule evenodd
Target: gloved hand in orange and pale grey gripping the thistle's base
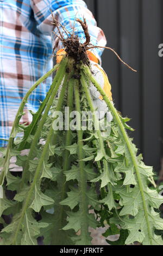
M 57 52 L 57 63 L 61 62 L 62 57 L 64 57 L 64 54 L 66 52 L 64 49 L 60 49 Z M 103 68 L 98 64 L 98 58 L 90 51 L 87 51 L 87 56 L 90 59 L 91 62 L 91 71 L 93 76 L 95 77 L 96 81 L 101 85 L 103 88 L 105 94 L 109 97 L 109 99 L 112 101 L 112 93 L 111 93 L 111 85 L 108 80 L 108 76 L 106 75 Z M 105 101 L 103 101 L 103 97 L 101 94 L 97 91 L 96 87 L 93 86 L 93 84 L 90 84 L 90 93 L 92 96 L 93 104 L 95 106 L 95 109 L 98 113 L 98 118 L 101 120 L 105 113 L 107 115 L 108 121 L 112 120 L 112 115 L 108 110 L 108 107 L 106 106 Z

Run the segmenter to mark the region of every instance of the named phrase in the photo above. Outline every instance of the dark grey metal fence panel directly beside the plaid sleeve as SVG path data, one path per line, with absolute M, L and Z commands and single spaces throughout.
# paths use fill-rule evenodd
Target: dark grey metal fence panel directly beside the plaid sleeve
M 119 33 L 119 1 L 108 0 L 98 1 L 98 26 L 101 27 L 107 39 L 107 46 L 114 48 L 120 53 L 120 33 Z M 115 54 L 109 50 L 104 50 L 102 65 L 108 74 L 112 84 L 112 95 L 116 107 L 120 109 L 120 62 Z

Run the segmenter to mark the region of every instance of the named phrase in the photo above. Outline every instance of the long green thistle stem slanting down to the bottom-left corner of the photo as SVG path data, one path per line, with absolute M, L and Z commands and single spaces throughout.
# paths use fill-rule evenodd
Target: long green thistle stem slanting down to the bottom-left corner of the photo
M 58 104 L 57 104 L 57 107 L 56 107 L 55 111 L 60 111 L 62 103 L 64 102 L 65 90 L 66 90 L 66 87 L 67 87 L 67 76 L 68 75 L 66 74 L 65 75 L 64 84 L 62 86 L 62 90 L 61 90 L 60 97 L 59 97 Z M 54 100 L 54 98 L 53 98 L 53 100 Z M 51 103 L 53 103 L 53 101 Z M 55 120 L 55 118 L 54 118 L 54 120 Z M 53 121 L 52 121 L 52 124 L 53 124 Z M 27 193 L 26 201 L 25 201 L 25 203 L 23 205 L 23 208 L 22 208 L 21 217 L 20 217 L 20 220 L 18 221 L 18 224 L 17 224 L 17 228 L 16 228 L 16 232 L 15 232 L 15 235 L 14 235 L 14 239 L 12 241 L 12 245 L 14 245 L 15 242 L 16 242 L 17 235 L 18 235 L 18 230 L 20 229 L 20 226 L 21 226 L 24 214 L 26 214 L 26 210 L 29 207 L 29 204 L 33 200 L 32 194 L 33 194 L 33 191 L 34 191 L 34 188 L 35 188 L 37 180 L 40 179 L 40 176 L 41 176 L 40 172 L 42 172 L 43 161 L 47 161 L 48 160 L 48 156 L 49 156 L 49 154 L 48 154 L 48 152 L 49 152 L 49 143 L 51 142 L 51 139 L 52 139 L 53 135 L 54 135 L 54 130 L 53 130 L 53 126 L 51 125 L 51 128 L 50 128 L 48 136 L 47 136 L 46 143 L 45 143 L 45 145 L 43 147 L 43 151 L 42 151 L 39 163 L 38 163 L 36 171 L 35 171 L 33 182 L 30 185 L 30 189 L 29 189 L 29 191 Z

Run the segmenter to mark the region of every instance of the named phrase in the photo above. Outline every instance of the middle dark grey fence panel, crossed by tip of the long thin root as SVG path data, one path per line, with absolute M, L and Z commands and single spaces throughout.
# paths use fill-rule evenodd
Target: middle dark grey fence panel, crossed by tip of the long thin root
M 133 72 L 121 64 L 121 111 L 124 116 L 131 119 L 130 125 L 135 132 L 136 146 L 142 150 L 141 143 L 141 11 L 140 1 L 120 1 L 120 41 L 121 57 L 131 67 L 137 70 Z

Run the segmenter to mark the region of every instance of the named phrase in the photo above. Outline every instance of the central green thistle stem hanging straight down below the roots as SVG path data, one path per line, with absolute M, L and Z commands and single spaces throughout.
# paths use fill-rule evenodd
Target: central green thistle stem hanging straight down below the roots
M 76 104 L 76 111 L 78 111 L 81 114 L 80 110 L 80 96 L 79 96 L 79 83 L 76 81 L 76 84 L 74 86 L 75 89 L 75 104 Z M 77 123 L 79 124 L 80 118 L 77 115 Z M 79 205 L 80 210 L 82 211 L 81 216 L 81 234 L 83 237 L 87 237 L 88 229 L 89 229 L 89 222 L 86 222 L 87 220 L 87 214 L 88 214 L 88 205 L 87 205 L 87 197 L 86 197 L 86 190 L 87 190 L 87 180 L 85 175 L 85 163 L 82 161 L 84 159 L 84 153 L 83 153 L 83 131 L 81 129 L 77 130 L 78 133 L 78 159 L 79 159 L 79 175 L 80 175 L 80 181 L 79 181 L 79 187 L 82 191 L 81 193 L 81 203 Z M 83 219 L 83 220 L 82 220 Z M 86 245 L 86 243 L 85 243 Z

